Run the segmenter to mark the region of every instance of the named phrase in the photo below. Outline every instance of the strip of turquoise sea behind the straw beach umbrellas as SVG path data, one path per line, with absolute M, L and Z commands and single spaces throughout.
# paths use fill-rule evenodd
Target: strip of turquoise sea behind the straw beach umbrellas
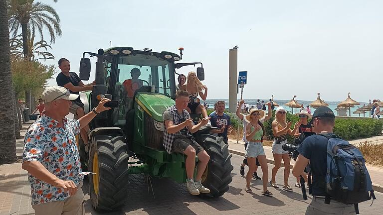
M 268 102 L 269 101 L 269 99 L 260 99 L 260 101 L 265 101 L 265 103 L 266 102 Z M 208 99 L 208 100 L 206 100 L 205 102 L 206 102 L 206 104 L 208 104 L 209 105 L 209 108 L 214 108 L 214 103 L 216 102 L 216 101 L 225 101 L 225 103 L 226 103 L 226 108 L 229 108 L 229 106 L 227 105 L 228 103 L 229 103 L 229 100 L 228 99 Z M 239 100 L 238 100 L 239 101 Z M 280 106 L 284 106 L 284 104 L 286 104 L 286 103 L 288 103 L 290 100 L 274 100 L 278 105 L 280 105 Z M 249 100 L 245 100 L 245 102 L 246 103 L 248 103 L 250 106 L 251 105 L 254 105 L 255 106 L 255 104 L 257 103 L 257 100 L 256 99 L 249 99 Z M 303 101 L 303 100 L 299 100 L 298 101 L 298 103 L 299 104 L 303 104 L 304 105 L 304 107 L 306 108 L 306 106 L 307 105 L 309 105 L 310 103 L 312 103 L 313 101 Z M 337 114 L 337 111 L 335 110 L 335 108 L 337 108 L 337 105 L 340 103 L 340 102 L 326 102 L 327 104 L 329 104 L 329 108 L 331 108 L 333 111 L 334 111 L 334 113 L 335 113 L 335 115 L 338 115 Z M 361 105 L 359 105 L 359 107 L 362 107 L 364 104 L 365 105 L 368 105 L 368 103 L 362 103 L 362 102 L 360 102 L 361 103 Z M 289 107 L 286 107 L 286 106 L 284 106 L 284 108 L 286 108 L 286 110 L 287 111 L 289 111 L 289 112 L 292 112 L 292 108 L 289 108 Z M 355 110 L 357 110 L 358 109 L 358 106 L 356 106 L 356 107 L 354 107 L 354 108 L 351 108 L 351 115 L 352 116 L 359 116 L 359 114 L 357 113 L 357 114 L 354 114 L 353 112 L 355 111 Z M 299 110 L 299 108 L 297 109 L 297 111 Z M 311 108 L 311 112 L 313 113 L 314 112 L 314 108 Z M 294 108 L 294 113 L 295 113 L 295 108 Z M 349 114 L 349 112 L 347 111 L 347 115 Z M 363 116 L 363 114 L 361 114 L 360 116 Z M 365 113 L 365 116 L 366 117 L 369 117 L 369 112 L 366 112 Z

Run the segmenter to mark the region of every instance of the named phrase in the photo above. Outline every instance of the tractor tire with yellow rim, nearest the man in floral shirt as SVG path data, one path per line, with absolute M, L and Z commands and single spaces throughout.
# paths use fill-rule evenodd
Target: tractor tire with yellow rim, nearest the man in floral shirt
M 112 211 L 123 206 L 128 197 L 128 148 L 126 139 L 117 135 L 92 138 L 88 167 L 89 194 L 96 210 Z

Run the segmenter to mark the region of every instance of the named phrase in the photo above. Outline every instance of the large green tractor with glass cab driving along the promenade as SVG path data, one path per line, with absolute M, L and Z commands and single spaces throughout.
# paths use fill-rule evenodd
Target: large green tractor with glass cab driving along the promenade
M 204 79 L 201 63 L 176 63 L 182 60 L 182 51 L 180 48 L 178 55 L 114 47 L 99 49 L 98 53 L 84 52 L 80 63 L 81 80 L 89 80 L 90 76 L 91 62 L 85 55 L 97 57 L 96 85 L 92 92 L 80 94 L 85 112 L 97 107 L 100 97 L 112 100 L 107 103 L 112 108 L 98 114 L 89 124 L 88 152 L 83 141 L 78 141 L 83 171 L 96 173 L 88 178 L 89 194 L 96 210 L 111 211 L 125 204 L 131 174 L 186 182 L 186 157 L 168 154 L 163 147 L 162 118 L 164 110 L 175 104 L 176 69 L 200 64 L 197 76 Z M 134 82 L 137 73 L 136 77 L 131 74 L 137 69 L 140 81 Z M 201 127 L 194 138 L 210 156 L 202 184 L 211 192 L 201 196 L 219 197 L 229 189 L 233 166 L 228 145 L 222 137 L 212 135 L 211 129 L 214 128 Z

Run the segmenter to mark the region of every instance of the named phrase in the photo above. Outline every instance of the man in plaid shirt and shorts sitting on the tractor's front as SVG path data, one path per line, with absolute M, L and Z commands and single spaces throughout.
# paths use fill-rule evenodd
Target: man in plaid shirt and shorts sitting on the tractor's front
M 210 193 L 210 190 L 201 184 L 201 177 L 210 156 L 194 141 L 194 137 L 191 134 L 196 132 L 202 125 L 205 125 L 210 117 L 203 118 L 198 124 L 194 125 L 189 112 L 186 110 L 188 104 L 189 93 L 180 90 L 176 94 L 176 105 L 164 111 L 164 147 L 169 154 L 177 152 L 187 155 L 185 166 L 188 177 L 186 184 L 189 193 L 192 195 Z M 198 156 L 198 166 L 194 182 L 195 155 Z

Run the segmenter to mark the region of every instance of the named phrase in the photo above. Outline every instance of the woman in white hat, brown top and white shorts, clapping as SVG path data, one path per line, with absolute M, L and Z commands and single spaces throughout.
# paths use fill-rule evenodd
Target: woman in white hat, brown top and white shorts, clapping
M 293 189 L 288 185 L 289 175 L 290 175 L 290 156 L 288 151 L 282 149 L 282 145 L 287 143 L 287 135 L 294 135 L 295 131 L 301 125 L 302 121 L 298 121 L 294 125 L 294 130 L 290 129 L 291 122 L 286 121 L 286 110 L 283 107 L 278 107 L 275 111 L 275 119 L 271 123 L 274 134 L 274 142 L 271 147 L 271 152 L 273 153 L 275 166 L 272 169 L 271 181 L 270 184 L 274 188 L 278 188 L 277 183 L 275 182 L 275 176 L 277 175 L 278 169 L 281 168 L 281 162 L 285 164 L 284 173 L 284 185 L 283 189 L 292 191 Z

